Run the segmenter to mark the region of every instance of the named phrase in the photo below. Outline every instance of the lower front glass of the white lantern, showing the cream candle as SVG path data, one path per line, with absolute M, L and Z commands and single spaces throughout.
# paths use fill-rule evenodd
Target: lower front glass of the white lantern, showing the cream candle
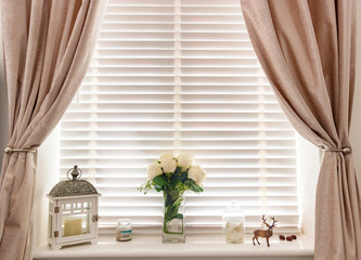
M 64 216 L 62 223 L 63 237 L 83 235 L 91 232 L 91 213 Z

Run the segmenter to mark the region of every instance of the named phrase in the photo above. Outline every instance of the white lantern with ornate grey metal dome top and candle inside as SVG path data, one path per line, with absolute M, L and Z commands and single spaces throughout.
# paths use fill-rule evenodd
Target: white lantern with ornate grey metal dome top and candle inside
M 68 177 L 70 171 L 73 179 Z M 90 182 L 79 180 L 80 177 L 81 170 L 75 166 L 67 172 L 69 180 L 57 183 L 48 194 L 48 242 L 53 250 L 86 242 L 96 244 L 101 194 Z

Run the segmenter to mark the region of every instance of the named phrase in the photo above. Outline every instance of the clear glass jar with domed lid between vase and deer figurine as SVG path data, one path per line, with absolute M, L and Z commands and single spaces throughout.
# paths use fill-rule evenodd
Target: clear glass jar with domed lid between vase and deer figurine
M 223 211 L 222 220 L 225 240 L 228 243 L 243 243 L 245 217 L 235 200 L 232 200 Z

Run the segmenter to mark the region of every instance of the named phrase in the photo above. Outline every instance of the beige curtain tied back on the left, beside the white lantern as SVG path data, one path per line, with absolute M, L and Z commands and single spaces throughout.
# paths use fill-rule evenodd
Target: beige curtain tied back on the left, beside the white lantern
M 59 122 L 85 77 L 104 9 L 104 0 L 1 1 L 9 147 L 36 150 Z M 5 154 L 0 259 L 25 258 L 34 181 L 34 153 Z

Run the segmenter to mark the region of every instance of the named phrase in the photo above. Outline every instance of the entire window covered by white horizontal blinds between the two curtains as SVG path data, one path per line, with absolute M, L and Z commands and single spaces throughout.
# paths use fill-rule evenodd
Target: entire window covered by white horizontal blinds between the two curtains
M 61 122 L 61 164 L 103 196 L 100 226 L 160 226 L 162 194 L 137 187 L 164 153 L 206 169 L 188 226 L 220 226 L 232 200 L 298 230 L 295 132 L 248 39 L 238 0 L 109 0 L 91 67 Z M 248 229 L 248 230 L 249 230 Z

